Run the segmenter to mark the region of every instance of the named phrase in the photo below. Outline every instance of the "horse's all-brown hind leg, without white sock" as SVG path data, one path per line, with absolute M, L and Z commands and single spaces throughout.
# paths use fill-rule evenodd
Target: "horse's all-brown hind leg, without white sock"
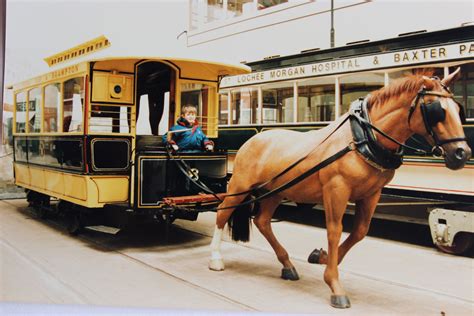
M 275 213 L 275 210 L 280 204 L 281 200 L 281 197 L 274 196 L 264 199 L 262 202 L 260 202 L 260 211 L 255 216 L 253 222 L 265 239 L 270 243 L 270 246 L 272 246 L 273 250 L 275 251 L 278 261 L 280 261 L 280 263 L 283 265 L 281 277 L 285 280 L 295 281 L 299 279 L 298 273 L 290 261 L 288 252 L 276 239 L 271 226 L 273 214 Z

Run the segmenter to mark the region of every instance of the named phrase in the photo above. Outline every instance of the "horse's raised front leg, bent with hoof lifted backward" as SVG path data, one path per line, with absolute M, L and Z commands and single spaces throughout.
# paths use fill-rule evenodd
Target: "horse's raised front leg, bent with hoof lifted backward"
M 375 208 L 377 207 L 381 193 L 382 191 L 380 190 L 374 195 L 356 202 L 354 228 L 346 240 L 344 240 L 344 242 L 339 246 L 338 263 L 341 263 L 347 252 L 367 235 L 370 227 L 370 221 L 374 215 Z M 315 256 L 316 254 L 319 260 L 313 260 L 317 260 L 317 263 L 320 264 L 327 263 L 327 253 L 324 250 L 316 249 L 313 251 L 312 255 Z

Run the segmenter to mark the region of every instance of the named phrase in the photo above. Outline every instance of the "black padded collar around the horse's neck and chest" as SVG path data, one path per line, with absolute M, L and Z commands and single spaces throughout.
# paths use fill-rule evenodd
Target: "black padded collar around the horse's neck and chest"
M 352 102 L 350 106 L 349 113 L 354 145 L 371 166 L 379 170 L 397 169 L 403 162 L 403 149 L 400 148 L 397 152 L 393 152 L 382 147 L 377 142 L 372 128 L 368 124 L 364 124 L 364 121 L 370 123 L 367 110 L 369 97 L 370 95 L 359 98 Z

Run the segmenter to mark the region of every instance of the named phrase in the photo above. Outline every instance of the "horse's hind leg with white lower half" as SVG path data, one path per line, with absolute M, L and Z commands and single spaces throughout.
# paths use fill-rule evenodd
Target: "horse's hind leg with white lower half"
M 242 190 L 244 191 L 244 190 Z M 239 191 L 239 192 L 242 192 Z M 229 220 L 232 212 L 235 208 L 226 209 L 226 207 L 237 205 L 245 199 L 245 196 L 228 196 L 224 201 L 219 205 L 219 208 L 223 208 L 217 211 L 216 215 L 216 227 L 214 229 L 214 235 L 211 241 L 211 259 L 209 260 L 209 269 L 214 271 L 224 270 L 224 261 L 222 260 L 221 255 L 221 240 L 222 232 L 224 231 L 224 226 Z

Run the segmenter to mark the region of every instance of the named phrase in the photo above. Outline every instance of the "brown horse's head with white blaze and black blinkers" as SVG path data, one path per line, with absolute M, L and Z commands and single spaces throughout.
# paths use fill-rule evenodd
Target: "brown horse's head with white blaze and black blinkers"
M 471 158 L 462 128 L 464 109 L 448 88 L 459 73 L 460 68 L 443 80 L 424 76 L 408 117 L 413 132 L 423 135 L 434 146 L 433 153 L 444 157 L 446 166 L 452 170 L 461 169 Z

